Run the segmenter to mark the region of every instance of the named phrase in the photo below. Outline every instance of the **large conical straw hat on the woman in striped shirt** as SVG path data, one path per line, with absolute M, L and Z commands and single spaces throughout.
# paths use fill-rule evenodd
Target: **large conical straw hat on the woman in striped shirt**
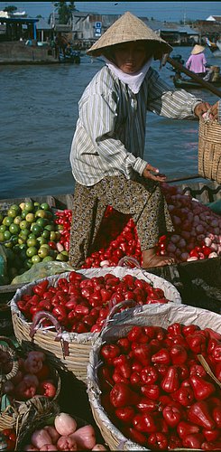
M 87 50 L 87 55 L 99 56 L 102 55 L 106 47 L 132 41 L 154 42 L 156 45 L 156 54 L 158 55 L 170 53 L 172 50 L 170 44 L 161 39 L 161 37 L 144 24 L 141 19 L 138 19 L 134 14 L 127 12 L 117 19 L 97 42 Z

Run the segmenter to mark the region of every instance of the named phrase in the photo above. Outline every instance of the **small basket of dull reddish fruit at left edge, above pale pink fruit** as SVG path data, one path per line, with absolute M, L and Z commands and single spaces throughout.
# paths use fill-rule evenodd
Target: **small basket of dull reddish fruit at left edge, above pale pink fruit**
M 45 353 L 23 350 L 10 337 L 0 336 L 0 432 L 17 434 L 23 416 L 38 410 L 41 400 L 50 404 L 60 394 L 60 375 Z

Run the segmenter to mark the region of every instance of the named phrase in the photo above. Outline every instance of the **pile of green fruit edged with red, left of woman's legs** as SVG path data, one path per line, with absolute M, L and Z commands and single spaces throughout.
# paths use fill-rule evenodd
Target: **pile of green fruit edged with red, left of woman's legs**
M 53 212 L 47 202 L 21 202 L 0 212 L 0 245 L 7 259 L 2 284 L 39 262 L 67 261 L 70 218 L 69 210 Z

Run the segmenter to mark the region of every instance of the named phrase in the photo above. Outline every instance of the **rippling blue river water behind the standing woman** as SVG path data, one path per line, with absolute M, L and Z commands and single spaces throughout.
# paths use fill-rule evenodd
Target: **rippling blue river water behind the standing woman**
M 177 47 L 186 61 L 191 48 Z M 220 64 L 206 49 L 207 62 Z M 78 119 L 78 100 L 102 67 L 83 56 L 79 65 L 0 66 L 0 199 L 73 193 L 69 150 Z M 153 67 L 159 70 L 159 61 Z M 173 83 L 167 64 L 161 76 Z M 191 90 L 214 104 L 209 91 Z M 180 177 L 198 172 L 198 121 L 147 115 L 145 158 L 161 173 Z

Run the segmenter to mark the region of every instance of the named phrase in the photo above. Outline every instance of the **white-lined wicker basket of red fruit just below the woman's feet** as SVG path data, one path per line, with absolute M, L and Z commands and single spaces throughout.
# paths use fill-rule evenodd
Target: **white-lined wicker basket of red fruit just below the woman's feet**
M 181 303 L 176 287 L 141 268 L 81 269 L 18 289 L 11 301 L 14 334 L 86 382 L 91 344 L 111 308 L 124 300 Z

